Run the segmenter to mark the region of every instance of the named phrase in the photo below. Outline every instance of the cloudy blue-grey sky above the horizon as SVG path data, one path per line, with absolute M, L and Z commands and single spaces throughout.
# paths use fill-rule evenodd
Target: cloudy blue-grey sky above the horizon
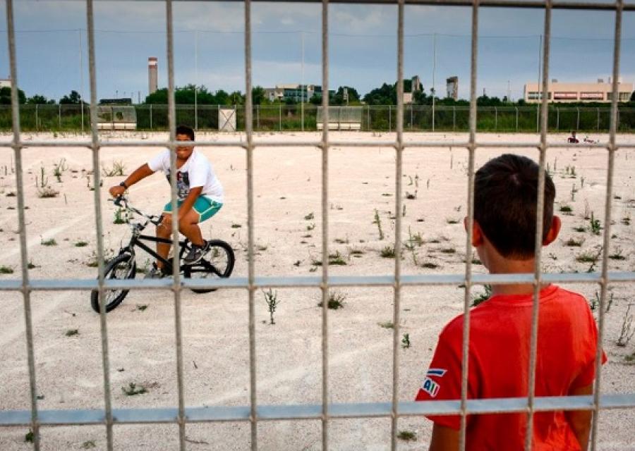
M 628 0 L 635 1 L 635 0 Z M 8 78 L 6 4 L 0 0 L 0 78 Z M 85 1 L 14 0 L 18 85 L 30 97 L 59 99 L 71 90 L 90 99 Z M 159 60 L 167 87 L 164 1 L 96 0 L 97 98 L 147 95 L 147 57 Z M 254 2 L 253 85 L 322 84 L 321 4 Z M 231 1 L 175 1 L 176 86 L 245 91 L 244 6 Z M 459 77 L 469 98 L 471 8 L 409 5 L 404 11 L 404 77 L 419 75 L 444 97 L 445 79 Z M 477 92 L 512 99 L 537 82 L 545 13 L 530 8 L 480 8 Z M 549 78 L 594 82 L 612 75 L 615 12 L 552 12 Z M 635 82 L 635 11 L 622 19 L 620 75 Z M 365 94 L 397 80 L 397 6 L 329 6 L 329 87 Z

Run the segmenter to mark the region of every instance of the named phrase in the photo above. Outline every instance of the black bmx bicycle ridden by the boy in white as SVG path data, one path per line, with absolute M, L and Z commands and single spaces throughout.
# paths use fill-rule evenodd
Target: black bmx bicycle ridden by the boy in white
M 135 247 L 140 247 L 148 254 L 155 257 L 157 260 L 162 261 L 163 271 L 167 276 L 174 274 L 174 268 L 172 266 L 172 259 L 164 259 L 150 248 L 145 242 L 163 242 L 172 244 L 173 241 L 168 238 L 159 238 L 152 235 L 143 235 L 143 230 L 152 223 L 155 226 L 159 226 L 163 216 L 162 215 L 147 215 L 138 209 L 135 209 L 128 203 L 128 199 L 125 197 L 118 197 L 114 199 L 114 204 L 123 208 L 128 214 L 136 214 L 142 219 L 140 222 L 128 221 L 128 225 L 131 227 L 132 235 L 128 245 L 122 246 L 119 249 L 119 254 L 107 262 L 104 268 L 104 279 L 133 279 L 137 273 L 137 263 L 135 255 Z M 183 264 L 183 255 L 189 252 L 191 249 L 191 243 L 189 240 L 180 240 L 179 245 L 181 251 L 179 252 L 179 273 L 184 278 L 226 278 L 231 275 L 231 271 L 234 270 L 234 250 L 231 246 L 222 240 L 209 240 L 208 251 L 205 256 L 195 264 Z M 207 293 L 215 291 L 216 288 L 192 288 L 195 293 Z M 104 290 L 103 300 L 106 304 L 106 311 L 111 311 L 117 307 L 123 299 L 128 295 L 128 290 Z M 92 309 L 99 313 L 99 291 L 93 290 L 90 293 L 90 305 Z

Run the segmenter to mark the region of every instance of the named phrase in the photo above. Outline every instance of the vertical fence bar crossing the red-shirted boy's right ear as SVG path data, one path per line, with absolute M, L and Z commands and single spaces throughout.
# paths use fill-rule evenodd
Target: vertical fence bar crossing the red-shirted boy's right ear
M 534 286 L 533 309 L 531 314 L 531 342 L 528 372 L 527 396 L 527 428 L 525 435 L 525 450 L 531 451 L 533 438 L 533 413 L 536 401 L 536 357 L 538 349 L 538 314 L 540 307 L 540 285 L 542 272 L 540 268 L 543 249 L 543 211 L 545 210 L 545 161 L 547 158 L 548 132 L 548 90 L 549 90 L 549 53 L 551 44 L 551 0 L 545 4 L 545 41 L 543 42 L 543 89 L 540 101 L 540 171 L 538 171 L 538 204 L 536 206 L 536 240 L 534 241 Z

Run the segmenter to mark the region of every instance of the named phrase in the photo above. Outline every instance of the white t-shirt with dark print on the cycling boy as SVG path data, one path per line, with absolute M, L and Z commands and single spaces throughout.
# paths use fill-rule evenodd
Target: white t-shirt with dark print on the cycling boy
M 163 171 L 170 180 L 170 151 L 165 149 L 147 162 L 150 170 Z M 223 203 L 223 185 L 219 182 L 212 164 L 196 149 L 176 172 L 176 195 L 183 201 L 190 193 L 190 188 L 202 186 L 201 194 L 214 202 Z

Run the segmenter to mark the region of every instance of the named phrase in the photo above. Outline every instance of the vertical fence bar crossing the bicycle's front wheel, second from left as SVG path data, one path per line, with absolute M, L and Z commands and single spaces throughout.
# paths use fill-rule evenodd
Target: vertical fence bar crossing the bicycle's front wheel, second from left
M 113 449 L 113 416 L 112 397 L 110 391 L 110 357 L 108 347 L 108 326 L 106 321 L 106 302 L 104 302 L 104 232 L 102 225 L 102 198 L 99 192 L 101 186 L 101 171 L 99 171 L 99 135 L 97 132 L 97 66 L 95 61 L 95 17 L 92 0 L 86 0 L 86 24 L 88 32 L 88 76 L 90 83 L 90 137 L 92 149 L 92 170 L 94 174 L 95 190 L 93 190 L 95 205 L 95 232 L 97 234 L 97 271 L 99 280 L 99 330 L 102 342 L 102 368 L 104 370 L 104 409 L 106 415 L 106 446 L 108 451 Z M 83 99 L 82 99 L 83 101 Z

